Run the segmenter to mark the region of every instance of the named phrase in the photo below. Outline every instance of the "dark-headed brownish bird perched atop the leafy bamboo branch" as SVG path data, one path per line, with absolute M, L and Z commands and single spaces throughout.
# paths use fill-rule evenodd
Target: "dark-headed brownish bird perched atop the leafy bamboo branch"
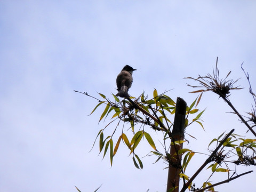
M 118 93 L 116 96 L 125 98 L 129 97 L 128 90 L 132 86 L 132 72 L 137 69 L 133 69 L 131 66 L 126 65 L 122 71 L 116 77 L 116 85 Z

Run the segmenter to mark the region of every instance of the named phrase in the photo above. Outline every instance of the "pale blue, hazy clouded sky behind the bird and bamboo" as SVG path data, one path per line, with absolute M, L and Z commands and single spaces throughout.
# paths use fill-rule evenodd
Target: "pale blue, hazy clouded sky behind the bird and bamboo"
M 195 90 L 186 84 L 194 82 L 184 77 L 212 73 L 218 57 L 223 77 L 231 70 L 230 78 L 241 78 L 237 85 L 244 89 L 231 91 L 229 98 L 246 114 L 253 100 L 241 63 L 255 90 L 255 9 L 254 1 L 1 1 L 0 191 L 65 192 L 76 186 L 89 192 L 101 184 L 99 191 L 165 191 L 166 164 L 144 157 L 152 150 L 146 140 L 138 147 L 143 170 L 134 167 L 124 145 L 112 167 L 108 156 L 99 155 L 98 140 L 89 153 L 111 119 L 98 123 L 103 108 L 89 116 L 97 101 L 73 90 L 113 100 L 116 76 L 130 65 L 137 69 L 132 96 L 171 90 L 173 100 L 191 103 L 198 95 L 188 93 Z M 204 93 L 198 108 L 206 108 L 205 131 L 192 125 L 187 132 L 197 140 L 186 136 L 185 147 L 209 154 L 210 141 L 231 129 L 253 138 L 217 95 Z M 148 132 L 163 150 L 162 133 L 150 127 Z M 187 174 L 206 158 L 196 154 Z M 255 167 L 230 169 L 254 172 L 215 190 L 256 187 Z M 210 174 L 199 174 L 196 185 Z M 218 173 L 211 182 L 225 179 L 227 174 Z

